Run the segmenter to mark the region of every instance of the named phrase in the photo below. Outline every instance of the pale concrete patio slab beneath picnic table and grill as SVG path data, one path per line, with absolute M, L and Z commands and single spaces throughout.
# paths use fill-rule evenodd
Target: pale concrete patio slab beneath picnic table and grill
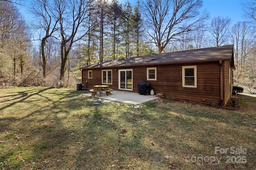
M 92 93 L 86 93 L 86 96 L 92 96 Z M 123 92 L 123 91 L 112 91 L 111 95 L 107 96 L 105 92 L 103 92 L 100 96 L 99 93 L 96 94 L 96 96 L 92 96 L 96 98 L 101 98 L 105 100 L 112 100 L 116 102 L 123 102 L 127 104 L 141 104 L 144 102 L 148 102 L 150 100 L 157 99 L 156 95 L 151 96 L 151 95 L 140 95 L 138 93 L 134 92 Z

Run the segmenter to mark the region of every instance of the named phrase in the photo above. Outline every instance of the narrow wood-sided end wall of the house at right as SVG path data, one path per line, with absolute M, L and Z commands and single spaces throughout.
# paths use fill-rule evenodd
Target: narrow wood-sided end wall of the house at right
M 231 83 L 230 80 L 231 78 L 229 76 L 231 76 L 232 74 L 232 70 L 230 68 L 230 61 L 224 61 L 223 62 L 223 105 L 225 106 L 228 102 L 228 100 L 230 99 L 231 96 Z M 229 74 L 230 71 L 230 74 Z

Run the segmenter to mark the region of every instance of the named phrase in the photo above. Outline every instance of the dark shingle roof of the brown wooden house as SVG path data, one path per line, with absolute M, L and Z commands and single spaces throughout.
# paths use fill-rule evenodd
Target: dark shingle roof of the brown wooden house
M 91 64 L 80 69 L 176 63 L 198 63 L 218 60 L 230 60 L 231 66 L 234 66 L 233 47 L 233 45 L 227 45 L 221 47 L 211 47 L 205 49 L 194 49 L 188 51 L 178 51 L 172 53 L 115 59 L 110 61 L 103 61 L 102 63 Z

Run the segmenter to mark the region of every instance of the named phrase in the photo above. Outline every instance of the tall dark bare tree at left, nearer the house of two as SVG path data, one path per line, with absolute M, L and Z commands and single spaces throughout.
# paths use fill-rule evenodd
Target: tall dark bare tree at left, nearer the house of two
M 88 32 L 80 26 L 88 17 L 89 3 L 87 0 L 54 0 L 54 3 L 59 17 L 60 80 L 63 81 L 68 55 L 73 43 L 82 39 Z

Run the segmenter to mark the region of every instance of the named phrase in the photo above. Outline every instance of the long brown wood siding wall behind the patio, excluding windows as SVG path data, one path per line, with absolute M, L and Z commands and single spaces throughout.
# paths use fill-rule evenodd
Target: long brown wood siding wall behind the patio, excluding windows
M 197 66 L 197 88 L 182 87 L 182 66 Z M 164 97 L 199 101 L 220 102 L 220 64 L 219 62 L 193 63 L 193 64 L 166 64 L 158 66 L 134 66 L 112 68 L 112 85 L 110 88 L 118 90 L 118 69 L 133 69 L 133 90 L 138 92 L 138 83 L 147 78 L 147 68 L 156 67 L 156 81 L 149 80 L 151 89 L 155 94 L 164 93 Z M 109 68 L 107 68 L 109 69 Z M 84 89 L 92 89 L 94 85 L 101 84 L 102 68 L 92 70 L 92 79 L 88 79 L 88 70 L 82 71 Z M 86 83 L 88 80 L 88 84 Z

